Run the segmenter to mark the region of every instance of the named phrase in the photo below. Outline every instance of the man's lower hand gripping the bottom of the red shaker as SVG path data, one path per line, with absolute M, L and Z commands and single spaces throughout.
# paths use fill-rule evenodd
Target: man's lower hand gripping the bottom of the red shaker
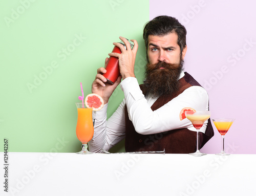
M 109 58 L 106 58 L 105 64 L 106 62 L 108 62 L 108 60 Z M 109 102 L 109 98 L 118 86 L 118 84 L 121 82 L 122 76 L 120 75 L 114 84 L 109 84 L 105 83 L 106 78 L 102 75 L 104 73 L 106 73 L 106 70 L 104 68 L 97 69 L 97 75 L 92 83 L 92 93 L 96 93 L 101 96 L 105 104 Z

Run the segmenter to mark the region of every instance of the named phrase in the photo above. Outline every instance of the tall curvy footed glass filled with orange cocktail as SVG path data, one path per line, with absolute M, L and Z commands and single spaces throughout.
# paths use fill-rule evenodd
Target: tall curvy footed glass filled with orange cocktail
M 82 103 L 76 103 L 77 107 L 77 123 L 76 136 L 82 142 L 82 150 L 77 154 L 92 154 L 87 148 L 87 143 L 93 138 L 94 128 L 92 119 L 92 108 L 86 108 Z

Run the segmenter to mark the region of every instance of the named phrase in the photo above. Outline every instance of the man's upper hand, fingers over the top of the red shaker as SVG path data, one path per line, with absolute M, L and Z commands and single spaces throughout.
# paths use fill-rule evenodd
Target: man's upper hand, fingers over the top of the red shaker
M 119 53 L 110 53 L 110 56 L 115 56 L 119 59 L 119 69 L 122 75 L 122 78 L 125 79 L 127 77 L 135 77 L 134 74 L 134 64 L 136 53 L 138 50 L 138 43 L 135 39 L 131 39 L 134 42 L 133 50 L 131 49 L 130 43 L 124 37 L 119 37 L 125 44 L 126 49 L 121 43 L 114 42 L 113 44 L 120 48 L 121 54 Z

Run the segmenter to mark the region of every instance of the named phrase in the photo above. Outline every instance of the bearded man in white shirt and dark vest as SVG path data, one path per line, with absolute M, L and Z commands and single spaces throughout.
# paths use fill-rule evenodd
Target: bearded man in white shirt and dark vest
M 126 151 L 163 151 L 165 153 L 193 153 L 196 150 L 196 129 L 188 119 L 180 119 L 185 107 L 196 111 L 209 110 L 207 92 L 188 73 L 183 72 L 187 51 L 186 29 L 170 16 L 158 16 L 149 21 L 143 31 L 147 64 L 144 83 L 139 85 L 134 74 L 138 43 L 131 49 L 129 41 L 114 43 L 121 54 L 121 75 L 112 85 L 97 70 L 92 93 L 100 95 L 104 106 L 93 113 L 94 136 L 89 142 L 92 152 L 109 150 L 125 138 Z M 108 61 L 106 58 L 105 63 Z M 121 79 L 122 82 L 121 82 Z M 106 110 L 111 94 L 120 83 L 124 100 L 116 112 L 106 120 Z M 214 136 L 210 120 L 200 129 L 200 148 Z

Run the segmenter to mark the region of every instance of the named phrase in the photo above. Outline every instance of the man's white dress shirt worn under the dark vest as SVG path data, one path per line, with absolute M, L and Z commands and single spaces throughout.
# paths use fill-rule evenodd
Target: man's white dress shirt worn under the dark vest
M 181 73 L 180 78 L 184 76 Z M 89 142 L 92 152 L 101 152 L 101 148 L 109 150 L 125 137 L 124 106 L 127 105 L 129 119 L 133 122 L 137 133 L 142 135 L 157 134 L 177 128 L 188 128 L 196 131 L 188 119 L 180 120 L 179 115 L 184 107 L 192 107 L 196 111 L 208 110 L 208 94 L 201 86 L 190 86 L 183 93 L 158 108 L 151 110 L 151 106 L 157 100 L 151 96 L 144 96 L 140 90 L 138 81 L 134 77 L 125 78 L 121 83 L 124 99 L 106 120 L 108 103 L 102 109 L 93 112 L 94 136 Z M 204 133 L 206 121 L 200 132 Z

